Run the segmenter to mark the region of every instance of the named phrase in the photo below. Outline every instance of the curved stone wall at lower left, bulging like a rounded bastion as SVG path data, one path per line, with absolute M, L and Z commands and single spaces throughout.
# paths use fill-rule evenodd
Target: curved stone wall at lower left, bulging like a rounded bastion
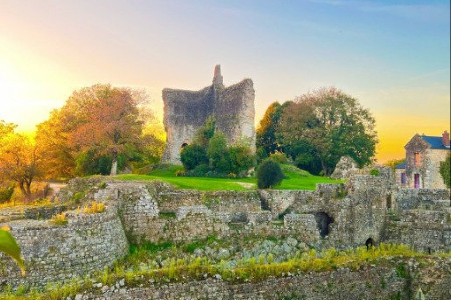
M 128 252 L 128 242 L 116 208 L 99 214 L 68 213 L 66 225 L 48 220 L 18 220 L 11 228 L 25 259 L 26 276 L 0 253 L 0 284 L 45 285 L 81 277 L 111 265 Z

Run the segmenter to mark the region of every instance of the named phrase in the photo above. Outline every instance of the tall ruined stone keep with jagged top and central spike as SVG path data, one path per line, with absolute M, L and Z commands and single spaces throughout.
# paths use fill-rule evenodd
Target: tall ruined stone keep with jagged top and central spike
M 163 162 L 180 164 L 181 149 L 190 144 L 208 116 L 216 119 L 216 129 L 228 144 L 245 138 L 255 148 L 254 83 L 251 79 L 225 87 L 220 65 L 213 84 L 198 91 L 163 89 L 166 150 Z

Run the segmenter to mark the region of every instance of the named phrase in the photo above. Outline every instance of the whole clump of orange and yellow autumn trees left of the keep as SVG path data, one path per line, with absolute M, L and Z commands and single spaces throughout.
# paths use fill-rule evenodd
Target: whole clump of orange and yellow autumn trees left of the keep
M 105 173 L 106 168 L 115 175 L 120 161 L 143 155 L 157 160 L 164 136 L 159 128 L 152 134 L 156 127 L 153 113 L 144 109 L 146 99 L 142 91 L 109 84 L 74 91 L 61 109 L 38 125 L 36 139 L 49 158 L 48 177 Z

